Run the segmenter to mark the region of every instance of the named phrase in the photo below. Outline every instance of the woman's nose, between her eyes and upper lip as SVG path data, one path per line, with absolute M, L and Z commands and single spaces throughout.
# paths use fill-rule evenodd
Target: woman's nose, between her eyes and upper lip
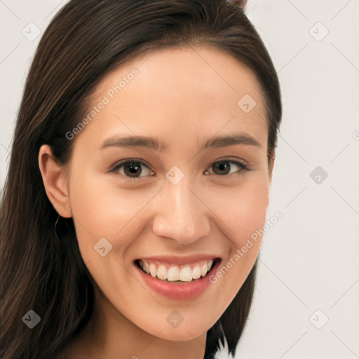
M 190 244 L 210 233 L 210 210 L 201 198 L 203 191 L 196 191 L 184 178 L 177 184 L 165 182 L 153 222 L 156 236 L 172 238 L 179 244 Z

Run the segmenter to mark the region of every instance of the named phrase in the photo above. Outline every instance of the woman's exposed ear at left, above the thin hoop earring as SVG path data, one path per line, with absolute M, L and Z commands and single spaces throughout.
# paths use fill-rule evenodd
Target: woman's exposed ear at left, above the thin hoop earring
M 65 166 L 55 160 L 51 147 L 43 144 L 39 150 L 39 168 L 48 199 L 61 217 L 72 217 Z

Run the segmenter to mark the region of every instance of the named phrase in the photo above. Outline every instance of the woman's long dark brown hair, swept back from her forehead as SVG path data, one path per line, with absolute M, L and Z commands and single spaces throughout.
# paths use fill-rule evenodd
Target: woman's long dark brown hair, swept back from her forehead
M 72 218 L 57 212 L 39 170 L 42 144 L 69 161 L 66 133 L 86 114 L 88 95 L 109 72 L 137 55 L 196 43 L 219 48 L 255 74 L 266 103 L 268 158 L 282 116 L 280 87 L 269 53 L 240 8 L 225 0 L 72 0 L 43 33 L 27 76 L 1 198 L 2 359 L 54 358 L 93 312 L 94 281 L 81 257 Z M 219 340 L 230 353 L 248 318 L 257 262 L 233 302 L 210 328 L 205 358 Z M 41 318 L 29 329 L 22 318 Z

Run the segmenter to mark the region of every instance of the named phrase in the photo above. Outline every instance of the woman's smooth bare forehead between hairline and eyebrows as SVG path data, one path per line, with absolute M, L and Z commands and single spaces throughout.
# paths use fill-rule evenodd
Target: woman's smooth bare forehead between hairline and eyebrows
M 255 75 L 217 48 L 165 48 L 135 57 L 102 79 L 90 104 L 104 97 L 108 104 L 91 124 L 98 135 L 111 135 L 116 127 L 144 135 L 178 130 L 178 137 L 195 133 L 199 138 L 225 127 L 266 140 L 264 100 Z

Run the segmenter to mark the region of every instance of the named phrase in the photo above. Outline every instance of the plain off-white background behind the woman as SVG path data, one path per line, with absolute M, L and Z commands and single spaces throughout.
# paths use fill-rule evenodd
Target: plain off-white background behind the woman
M 0 0 L 1 188 L 40 39 L 22 29 L 42 34 L 66 2 Z M 252 0 L 246 12 L 283 92 L 267 215 L 283 218 L 264 236 L 236 358 L 359 358 L 359 0 Z

